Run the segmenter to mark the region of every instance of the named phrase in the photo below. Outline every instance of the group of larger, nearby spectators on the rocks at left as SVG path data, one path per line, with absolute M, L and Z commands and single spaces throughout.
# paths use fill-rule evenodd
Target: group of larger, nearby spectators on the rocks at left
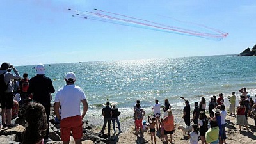
M 19 72 L 10 63 L 2 63 L 0 68 L 1 129 L 15 127 L 12 114 L 24 120 L 23 144 L 39 144 L 52 141 L 49 138 L 49 116 L 52 95 L 55 92 L 52 80 L 45 76 L 43 64 L 36 66 L 36 76 L 28 79 L 28 74 L 20 78 Z M 12 74 L 11 72 L 15 73 Z M 76 74 L 65 75 L 65 86 L 56 93 L 54 112 L 61 121 L 60 131 L 63 144 L 69 143 L 70 132 L 76 144 L 81 144 L 83 134 L 82 119 L 88 110 L 84 91 L 74 85 Z M 31 102 L 32 100 L 32 102 Z M 83 104 L 83 113 L 80 104 Z M 19 110 L 20 108 L 20 110 Z M 19 113 L 18 113 L 19 112 Z

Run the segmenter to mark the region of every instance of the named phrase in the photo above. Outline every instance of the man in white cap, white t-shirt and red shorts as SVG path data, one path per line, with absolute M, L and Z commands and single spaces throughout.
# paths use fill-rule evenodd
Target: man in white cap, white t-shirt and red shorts
M 86 96 L 82 88 L 74 85 L 76 75 L 73 72 L 67 73 L 65 81 L 67 85 L 58 90 L 54 104 L 54 112 L 58 120 L 60 120 L 61 140 L 63 144 L 69 143 L 70 131 L 72 131 L 75 143 L 81 144 L 83 134 L 82 120 L 88 110 Z M 83 103 L 82 115 L 80 112 L 81 102 Z

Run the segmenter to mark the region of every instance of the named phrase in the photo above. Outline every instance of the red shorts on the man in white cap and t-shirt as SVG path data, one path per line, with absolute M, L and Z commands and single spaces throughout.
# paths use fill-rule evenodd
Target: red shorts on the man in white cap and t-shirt
M 61 140 L 69 141 L 70 132 L 74 139 L 81 139 L 83 136 L 82 116 L 72 116 L 60 121 Z

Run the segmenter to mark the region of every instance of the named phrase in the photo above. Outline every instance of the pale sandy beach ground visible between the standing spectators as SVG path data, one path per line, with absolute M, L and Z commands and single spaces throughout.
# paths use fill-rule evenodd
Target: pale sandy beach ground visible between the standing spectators
M 174 115 L 177 117 L 177 115 Z M 178 115 L 181 117 L 181 115 Z M 146 120 L 144 118 L 144 120 Z M 256 127 L 254 125 L 254 120 L 248 117 L 248 127 L 250 132 L 247 132 L 245 127 L 242 127 L 243 131 L 239 132 L 239 127 L 236 125 L 236 117 L 234 116 L 227 116 L 226 118 L 226 133 L 227 133 L 227 140 L 226 143 L 230 144 L 241 144 L 241 143 L 256 143 Z M 133 119 L 121 120 L 121 129 L 122 133 L 113 134 L 113 128 L 111 124 L 111 144 L 114 143 L 151 143 L 150 132 L 146 131 L 143 135 L 139 134 L 138 136 L 134 135 L 134 121 Z M 192 123 L 191 123 L 192 124 Z M 176 123 L 177 126 L 184 125 L 184 122 L 180 121 Z M 99 132 L 102 125 L 98 125 L 96 129 L 93 129 L 94 132 Z M 105 133 L 107 131 L 105 130 Z M 177 129 L 173 134 L 173 143 L 185 144 L 189 143 L 189 139 L 184 139 L 182 136 L 182 131 Z M 168 141 L 170 143 L 170 136 L 168 136 Z M 163 143 L 160 138 L 160 131 L 156 132 L 156 143 Z M 201 143 L 199 140 L 198 143 Z

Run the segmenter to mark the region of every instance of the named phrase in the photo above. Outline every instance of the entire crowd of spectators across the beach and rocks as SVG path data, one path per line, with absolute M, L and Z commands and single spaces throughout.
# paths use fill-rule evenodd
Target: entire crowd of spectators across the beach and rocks
M 52 80 L 45 76 L 44 65 L 39 64 L 35 69 L 36 76 L 29 79 L 28 74 L 24 73 L 21 79 L 19 72 L 10 63 L 2 63 L 0 68 L 1 129 L 15 127 L 15 124 L 11 122 L 12 118 L 17 116 L 24 118 L 24 122 L 26 122 L 24 144 L 51 141 L 49 138 L 49 115 L 51 93 L 54 93 L 55 89 Z M 12 74 L 12 70 L 15 74 Z M 61 122 L 61 140 L 63 143 L 69 143 L 70 132 L 72 132 L 72 136 L 78 144 L 81 143 L 82 119 L 88 110 L 88 103 L 83 89 L 74 84 L 76 74 L 68 72 L 64 80 L 65 86 L 58 90 L 54 99 L 54 113 L 56 121 Z M 235 108 L 237 101 L 235 92 L 232 92 L 231 96 L 228 97 L 230 103 L 228 116 L 236 116 L 239 131 L 243 131 L 242 126 L 250 131 L 248 129 L 248 116 L 254 118 L 256 126 L 256 99 L 253 101 L 246 88 L 241 88 L 239 92 L 241 96 L 237 108 Z M 183 130 L 185 132 L 185 129 L 193 129 L 193 131 L 186 131 L 191 144 L 198 143 L 198 140 L 202 144 L 226 143 L 225 120 L 227 111 L 222 93 L 218 95 L 218 98 L 216 96 L 211 97 L 209 104 L 204 97 L 201 97 L 200 102 L 194 103 L 193 113 L 191 113 L 189 101 L 184 97 L 180 98 L 185 103 L 182 119 L 186 126 Z M 83 104 L 82 113 L 80 104 Z M 133 108 L 135 134 L 143 134 L 149 127 L 152 143 L 156 143 L 156 131 L 161 133 L 163 143 L 168 143 L 168 135 L 170 135 L 170 143 L 173 143 L 175 124 L 172 106 L 168 99 L 164 100 L 163 109 L 161 108 L 159 100 L 156 99 L 154 106 L 152 106 L 153 115 L 148 115 L 148 122 L 145 122 L 143 118 L 146 112 L 141 108 L 140 100 L 137 100 Z M 163 116 L 161 111 L 163 111 Z M 209 112 L 209 116 L 207 116 L 206 111 Z M 120 113 L 115 105 L 110 106 L 110 103 L 106 102 L 106 106 L 102 109 L 104 122 L 100 134 L 104 134 L 108 123 L 108 136 L 110 136 L 111 122 L 114 133 L 116 132 L 115 122 L 118 125 L 118 132 L 122 132 L 118 119 Z M 37 123 L 35 124 L 35 122 Z M 191 126 L 191 122 L 193 122 L 193 126 Z

